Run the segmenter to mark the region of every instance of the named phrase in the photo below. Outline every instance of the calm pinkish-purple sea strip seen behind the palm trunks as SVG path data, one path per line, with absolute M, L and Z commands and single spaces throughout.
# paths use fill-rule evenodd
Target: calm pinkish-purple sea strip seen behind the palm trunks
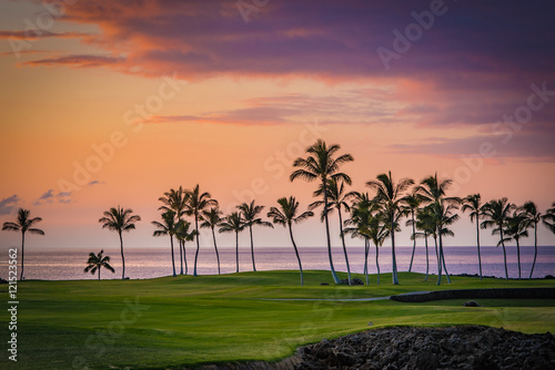
M 411 247 L 395 248 L 397 255 L 397 268 L 400 271 L 408 270 L 411 261 Z M 102 278 L 121 278 L 121 256 L 119 248 L 105 249 L 111 256 L 111 265 L 115 274 L 102 269 Z M 172 275 L 170 248 L 125 248 L 125 275 L 131 279 L 145 279 Z M 482 269 L 485 276 L 504 277 L 503 249 L 496 247 L 482 247 Z M 8 251 L 2 250 L 4 256 L 0 260 L 0 277 L 8 277 Z M 363 273 L 364 248 L 349 247 L 349 259 L 351 271 Z M 175 270 L 180 273 L 179 249 L 175 248 Z M 300 248 L 303 269 L 329 269 L 327 253 L 325 247 Z M 292 247 L 255 247 L 255 263 L 258 270 L 297 269 L 299 265 Z M 333 250 L 335 269 L 346 271 L 345 258 L 341 247 L 335 246 Z M 445 258 L 450 274 L 477 274 L 477 254 L 475 247 L 447 247 Z M 33 250 L 26 249 L 24 275 L 27 279 L 44 280 L 69 280 L 69 279 L 94 279 L 97 276 L 84 274 L 88 251 L 82 249 L 58 249 L 58 250 Z M 192 274 L 194 263 L 193 246 L 189 246 L 188 274 Z M 240 250 L 240 271 L 251 271 L 252 261 L 248 246 Z M 534 259 L 533 247 L 521 247 L 522 276 L 528 277 Z M 222 274 L 235 273 L 235 250 L 221 248 L 220 261 Z M 518 277 L 516 247 L 507 247 L 507 263 L 509 277 Z M 371 248 L 369 256 L 370 273 L 375 274 L 375 247 Z M 430 273 L 436 274 L 435 250 L 430 247 Z M 19 268 L 19 266 L 18 266 Z M 183 267 L 184 269 L 184 267 Z M 391 273 L 391 248 L 380 248 L 381 273 Z M 425 273 L 426 259 L 425 248 L 416 247 L 413 271 Z M 218 274 L 214 249 L 202 249 L 199 254 L 198 273 L 200 275 Z M 534 268 L 534 277 L 555 275 L 555 247 L 538 247 L 538 256 Z M 18 273 L 19 276 L 19 273 Z

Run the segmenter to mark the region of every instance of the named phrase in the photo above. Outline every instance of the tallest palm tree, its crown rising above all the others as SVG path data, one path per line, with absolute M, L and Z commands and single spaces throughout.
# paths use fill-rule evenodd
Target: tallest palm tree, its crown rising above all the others
M 341 165 L 353 161 L 353 156 L 351 154 L 342 154 L 337 157 L 334 157 L 340 148 L 341 146 L 337 144 L 333 144 L 327 147 L 325 142 L 319 138 L 316 143 L 306 148 L 306 154 L 309 154 L 306 158 L 299 157 L 293 162 L 293 167 L 299 167 L 299 169 L 295 169 L 290 176 L 291 182 L 295 181 L 296 178 L 302 178 L 306 182 L 319 179 L 320 184 L 322 184 L 324 209 L 326 210 L 324 213 L 324 222 L 325 235 L 327 240 L 327 258 L 330 259 L 330 269 L 332 270 L 332 277 L 335 284 L 340 284 L 341 280 L 337 277 L 337 274 L 335 274 L 335 269 L 333 268 L 330 222 L 327 219 L 327 179 L 342 179 L 351 185 L 351 177 L 339 171 Z

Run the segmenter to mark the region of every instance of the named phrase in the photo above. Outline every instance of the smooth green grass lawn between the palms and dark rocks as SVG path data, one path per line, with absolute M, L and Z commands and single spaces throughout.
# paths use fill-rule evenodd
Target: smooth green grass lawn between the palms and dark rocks
M 370 287 L 320 286 L 321 281 L 331 282 L 329 271 L 306 271 L 304 287 L 299 286 L 297 271 L 100 282 L 22 281 L 18 284 L 18 362 L 14 366 L 4 353 L 0 367 L 165 369 L 278 360 L 322 338 L 397 325 L 477 323 L 523 332 L 555 330 L 555 299 L 478 299 L 483 305 L 478 308 L 462 307 L 464 300 L 332 300 L 436 289 L 555 287 L 553 280 L 480 281 L 463 277 L 437 287 L 435 277 L 427 282 L 423 277 L 401 273 L 401 284 L 393 286 L 391 274 L 383 274 L 380 286 L 372 276 Z M 0 290 L 6 291 L 3 287 Z M 279 298 L 314 300 L 266 300 Z M 145 308 L 139 317 L 125 304 L 135 300 Z M 6 310 L 0 320 L 9 321 Z M 2 332 L 6 343 L 9 333 Z

